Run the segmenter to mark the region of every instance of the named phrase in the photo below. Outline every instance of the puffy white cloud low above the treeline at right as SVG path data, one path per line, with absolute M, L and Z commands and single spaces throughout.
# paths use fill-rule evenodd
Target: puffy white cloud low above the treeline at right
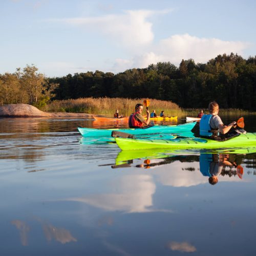
M 158 44 L 152 45 L 150 51 L 140 55 L 134 55 L 126 63 L 126 69 L 146 68 L 148 65 L 157 62 L 170 61 L 177 67 L 182 59 L 194 59 L 196 63 L 205 63 L 219 54 L 238 53 L 243 55 L 249 44 L 241 41 L 223 41 L 217 38 L 200 38 L 189 34 L 173 35 L 160 40 Z M 122 66 L 114 64 L 114 70 L 122 71 Z

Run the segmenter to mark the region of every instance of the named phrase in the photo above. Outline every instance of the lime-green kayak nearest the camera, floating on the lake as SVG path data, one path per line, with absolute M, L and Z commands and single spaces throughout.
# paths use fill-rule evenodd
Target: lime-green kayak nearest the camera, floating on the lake
M 121 150 L 143 150 L 146 148 L 226 148 L 226 147 L 256 147 L 256 133 L 240 134 L 226 141 L 216 141 L 204 138 L 176 138 L 169 140 L 155 139 L 123 139 L 116 138 Z

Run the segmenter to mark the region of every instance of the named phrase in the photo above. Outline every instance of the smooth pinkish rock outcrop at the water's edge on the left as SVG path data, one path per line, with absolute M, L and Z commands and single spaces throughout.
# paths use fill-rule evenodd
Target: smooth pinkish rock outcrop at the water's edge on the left
M 47 113 L 38 110 L 35 106 L 28 104 L 8 104 L 0 106 L 0 116 L 2 117 L 90 117 L 85 113 Z

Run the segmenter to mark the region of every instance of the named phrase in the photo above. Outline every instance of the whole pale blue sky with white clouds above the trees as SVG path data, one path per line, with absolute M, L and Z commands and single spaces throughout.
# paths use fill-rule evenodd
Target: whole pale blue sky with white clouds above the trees
M 47 77 L 256 55 L 254 0 L 2 0 L 0 74 Z

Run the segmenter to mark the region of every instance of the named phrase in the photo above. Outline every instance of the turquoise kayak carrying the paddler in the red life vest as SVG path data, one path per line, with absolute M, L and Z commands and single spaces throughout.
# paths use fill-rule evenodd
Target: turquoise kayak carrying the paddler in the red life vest
M 119 131 L 133 135 L 154 133 L 182 133 L 191 131 L 196 123 L 197 122 L 184 123 L 179 125 L 154 125 L 147 129 L 93 129 L 78 127 L 78 131 L 83 137 L 111 136 L 112 131 Z

